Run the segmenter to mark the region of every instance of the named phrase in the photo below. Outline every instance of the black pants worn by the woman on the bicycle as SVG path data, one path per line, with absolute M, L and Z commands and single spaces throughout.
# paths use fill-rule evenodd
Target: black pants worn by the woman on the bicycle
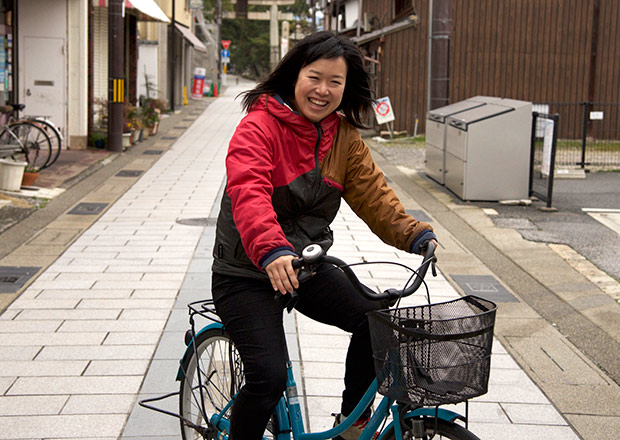
M 261 439 L 286 388 L 284 301 L 268 281 L 213 274 L 217 313 L 237 346 L 246 383 L 232 408 L 231 440 Z M 350 414 L 375 377 L 366 313 L 379 303 L 359 295 L 339 270 L 321 271 L 297 290 L 296 309 L 351 333 L 341 412 Z M 369 410 L 368 410 L 369 411 Z

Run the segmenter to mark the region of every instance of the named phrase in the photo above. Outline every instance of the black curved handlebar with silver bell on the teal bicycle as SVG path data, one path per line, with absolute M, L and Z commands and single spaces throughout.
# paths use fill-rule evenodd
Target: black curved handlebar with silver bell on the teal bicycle
M 301 268 L 302 271 L 298 278 L 300 281 L 303 281 L 302 278 L 310 277 L 314 274 L 312 268 L 318 265 L 318 263 L 332 264 L 344 272 L 351 284 L 353 284 L 356 290 L 365 298 L 373 301 L 392 300 L 409 296 L 418 290 L 424 282 L 424 277 L 429 267 L 431 267 L 433 276 L 437 276 L 437 272 L 435 271 L 435 261 L 437 261 L 435 258 L 435 248 L 435 244 L 429 241 L 424 255 L 424 261 L 418 268 L 413 283 L 403 289 L 391 288 L 380 293 L 364 286 L 347 263 L 331 255 L 325 255 L 325 251 L 317 244 L 306 246 L 302 252 L 301 258 L 293 261 L 293 267 L 296 269 Z M 311 273 L 308 274 L 307 271 L 304 271 L 305 268 L 309 269 Z

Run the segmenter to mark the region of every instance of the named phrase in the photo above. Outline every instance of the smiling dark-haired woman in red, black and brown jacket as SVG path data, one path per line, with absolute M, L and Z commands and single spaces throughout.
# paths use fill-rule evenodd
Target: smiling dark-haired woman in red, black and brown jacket
M 296 291 L 300 313 L 352 334 L 343 415 L 375 377 L 366 313 L 380 305 L 362 298 L 340 271 L 300 284 L 292 266 L 306 245 L 332 245 L 329 226 L 341 198 L 399 249 L 422 253 L 436 240 L 430 225 L 405 213 L 362 141 L 359 128 L 373 99 L 363 55 L 351 41 L 312 34 L 242 95 L 248 114 L 226 158 L 212 279 L 218 315 L 246 380 L 232 408 L 232 440 L 261 439 L 286 386 L 286 301 L 274 300 L 274 291 Z M 369 415 L 370 408 L 342 438 L 357 438 Z

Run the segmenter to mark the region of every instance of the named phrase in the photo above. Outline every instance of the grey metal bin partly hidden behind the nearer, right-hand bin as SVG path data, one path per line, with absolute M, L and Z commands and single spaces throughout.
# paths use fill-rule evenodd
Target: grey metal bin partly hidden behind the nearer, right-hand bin
M 445 184 L 446 169 L 446 120 L 449 116 L 482 107 L 490 102 L 500 101 L 493 96 L 474 96 L 465 101 L 455 102 L 436 108 L 426 115 L 426 175 L 442 185 Z

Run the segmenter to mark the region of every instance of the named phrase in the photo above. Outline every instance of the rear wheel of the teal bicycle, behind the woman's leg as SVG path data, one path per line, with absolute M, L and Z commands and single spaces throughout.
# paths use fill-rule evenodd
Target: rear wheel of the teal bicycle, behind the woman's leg
M 219 414 L 239 391 L 244 383 L 243 365 L 239 353 L 224 329 L 214 328 L 196 337 L 196 350 L 190 346 L 191 355 L 181 364 L 184 371 L 179 388 L 179 414 L 181 415 L 181 436 L 183 440 L 202 439 L 202 435 L 187 426 L 183 419 L 207 427 L 205 416 L 201 413 L 199 383 L 204 389 L 204 412 L 207 418 Z M 197 369 L 196 353 L 201 368 Z M 200 382 L 197 372 L 200 371 Z M 230 409 L 225 414 L 230 417 Z M 275 438 L 278 422 L 273 414 L 264 438 Z

